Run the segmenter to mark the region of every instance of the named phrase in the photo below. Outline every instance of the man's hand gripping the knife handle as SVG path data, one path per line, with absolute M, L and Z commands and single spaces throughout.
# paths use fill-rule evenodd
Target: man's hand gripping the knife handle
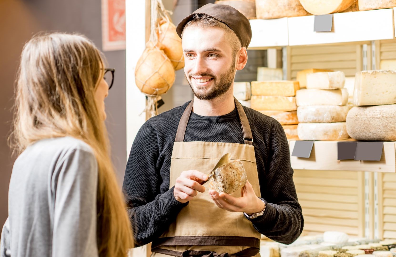
M 176 179 L 173 195 L 182 204 L 191 201 L 198 192 L 205 192 L 205 187 L 198 181 L 206 181 L 208 176 L 197 170 L 186 170 Z M 198 192 L 197 192 L 198 191 Z

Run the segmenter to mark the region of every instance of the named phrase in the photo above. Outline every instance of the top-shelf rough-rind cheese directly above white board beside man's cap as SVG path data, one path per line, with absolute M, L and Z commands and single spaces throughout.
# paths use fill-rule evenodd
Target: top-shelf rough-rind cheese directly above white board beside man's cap
M 257 19 L 277 19 L 309 15 L 299 0 L 256 0 Z

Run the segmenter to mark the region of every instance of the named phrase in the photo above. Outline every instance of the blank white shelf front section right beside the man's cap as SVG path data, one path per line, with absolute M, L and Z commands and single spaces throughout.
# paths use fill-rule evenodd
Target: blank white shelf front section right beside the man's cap
M 251 19 L 251 42 L 248 49 L 287 46 L 289 36 L 287 18 Z

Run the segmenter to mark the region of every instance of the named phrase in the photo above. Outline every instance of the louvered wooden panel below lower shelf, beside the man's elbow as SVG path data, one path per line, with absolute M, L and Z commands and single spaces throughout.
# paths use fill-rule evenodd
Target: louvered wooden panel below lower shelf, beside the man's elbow
M 327 230 L 364 236 L 364 173 L 294 170 L 304 234 Z

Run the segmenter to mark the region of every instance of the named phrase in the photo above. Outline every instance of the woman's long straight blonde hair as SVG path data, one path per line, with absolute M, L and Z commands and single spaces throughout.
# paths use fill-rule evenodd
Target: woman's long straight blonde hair
M 99 169 L 99 256 L 121 257 L 133 247 L 133 238 L 109 156 L 107 131 L 94 98 L 103 67 L 100 51 L 84 36 L 34 36 L 21 55 L 11 138 L 19 153 L 38 140 L 66 136 L 93 149 Z

